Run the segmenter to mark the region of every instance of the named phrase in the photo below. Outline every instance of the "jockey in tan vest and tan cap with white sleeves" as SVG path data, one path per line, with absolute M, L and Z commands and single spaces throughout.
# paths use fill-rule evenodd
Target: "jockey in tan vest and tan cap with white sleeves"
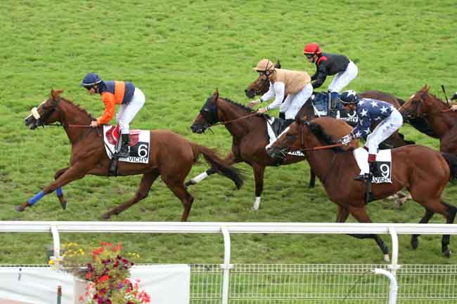
M 274 97 L 273 103 L 257 110 L 259 113 L 264 113 L 279 107 L 284 100 L 284 96 L 287 95 L 281 105 L 281 112 L 285 112 L 286 125 L 291 124 L 297 112 L 313 93 L 309 74 L 307 72 L 276 69 L 273 62 L 268 59 L 260 60 L 257 63 L 257 67 L 253 69 L 259 72 L 261 76 L 268 77 L 270 88 L 261 98 L 248 103 L 247 107 L 254 107 Z

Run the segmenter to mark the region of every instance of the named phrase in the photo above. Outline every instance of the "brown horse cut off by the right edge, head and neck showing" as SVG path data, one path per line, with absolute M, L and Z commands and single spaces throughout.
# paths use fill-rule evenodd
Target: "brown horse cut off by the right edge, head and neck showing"
M 430 87 L 423 86 L 399 108 L 404 117 L 426 119 L 436 137 L 439 138 L 439 151 L 457 154 L 457 113 L 429 93 Z

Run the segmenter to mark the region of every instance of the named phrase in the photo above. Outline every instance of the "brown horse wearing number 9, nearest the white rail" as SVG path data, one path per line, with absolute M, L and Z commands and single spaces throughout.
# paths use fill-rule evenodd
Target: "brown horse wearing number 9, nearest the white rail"
M 268 153 L 271 157 L 277 157 L 284 150 L 303 150 L 329 199 L 338 205 L 337 222 L 345 222 L 350 213 L 361 223 L 371 223 L 366 212 L 365 184 L 354 180 L 354 176 L 359 173 L 359 166 L 352 152 L 343 151 L 340 147 L 316 149 L 333 144 L 335 137 L 328 136 L 328 133 L 344 126 L 342 121 L 330 117 L 317 118 L 311 122 L 296 119 L 288 131 L 273 143 Z M 442 201 L 442 192 L 451 178 L 457 178 L 456 156 L 420 145 L 406 145 L 392 150 L 392 163 L 392 184 L 373 184 L 374 200 L 388 197 L 406 187 L 413 200 L 425 208 L 425 216 L 419 223 L 427 223 L 434 213 L 442 214 L 446 223 L 453 223 L 457 208 Z M 387 246 L 377 234 L 353 236 L 375 239 L 385 258 L 388 257 Z M 449 239 L 449 235 L 442 237 L 442 253 L 448 257 L 451 253 Z M 417 234 L 411 237 L 411 246 L 417 248 Z

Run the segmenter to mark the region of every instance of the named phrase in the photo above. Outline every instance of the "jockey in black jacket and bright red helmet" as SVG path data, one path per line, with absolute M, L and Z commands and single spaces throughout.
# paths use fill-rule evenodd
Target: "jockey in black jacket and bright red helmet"
M 352 80 L 357 77 L 359 69 L 345 55 L 337 55 L 330 53 L 322 53 L 321 48 L 317 44 L 307 44 L 303 50 L 308 62 L 316 63 L 316 72 L 311 76 L 313 88 L 322 86 L 326 81 L 327 76 L 335 75 L 328 93 L 330 93 L 331 108 L 335 110 L 337 103 L 337 93 L 347 86 Z

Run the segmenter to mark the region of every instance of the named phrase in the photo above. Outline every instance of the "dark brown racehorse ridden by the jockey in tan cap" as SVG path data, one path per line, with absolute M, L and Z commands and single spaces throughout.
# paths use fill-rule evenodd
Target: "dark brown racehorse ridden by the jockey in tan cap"
M 266 154 L 265 146 L 269 144 L 269 136 L 266 131 L 266 114 L 255 114 L 250 108 L 234 103 L 226 98 L 219 97 L 219 91 L 215 91 L 203 105 L 200 114 L 195 118 L 191 129 L 194 133 L 204 133 L 207 128 L 214 124 L 224 124 L 232 136 L 231 152 L 226 158 L 228 164 L 241 161 L 252 166 L 255 177 L 255 203 L 253 209 L 258 209 L 262 190 L 264 188 L 265 166 L 277 166 L 278 159 L 273 159 Z M 333 135 L 344 136 L 352 127 L 346 124 L 340 130 L 335 130 Z M 352 147 L 358 147 L 359 141 L 354 140 Z M 302 161 L 304 157 L 287 155 L 281 164 L 293 164 Z M 211 168 L 206 173 L 188 181 L 186 185 L 198 183 L 202 178 L 210 175 Z

